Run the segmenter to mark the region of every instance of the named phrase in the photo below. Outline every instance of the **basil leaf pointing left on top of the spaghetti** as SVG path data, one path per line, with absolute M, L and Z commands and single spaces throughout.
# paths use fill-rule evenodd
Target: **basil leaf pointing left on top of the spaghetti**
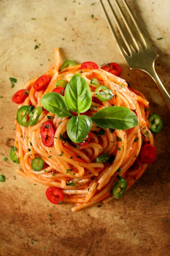
M 47 93 L 41 99 L 42 106 L 59 117 L 72 116 L 65 104 L 65 98 L 59 93 Z

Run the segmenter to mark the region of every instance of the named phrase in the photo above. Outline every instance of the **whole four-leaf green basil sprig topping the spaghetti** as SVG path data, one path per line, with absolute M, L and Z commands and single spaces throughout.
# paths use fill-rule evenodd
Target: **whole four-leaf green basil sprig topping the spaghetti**
M 79 74 L 74 75 L 65 89 L 65 97 L 59 93 L 47 93 L 41 99 L 43 107 L 59 117 L 72 116 L 67 123 L 69 138 L 80 143 L 91 129 L 92 121 L 101 128 L 126 130 L 138 125 L 136 114 L 129 108 L 109 107 L 94 116 L 80 116 L 91 107 L 92 96 L 88 83 Z M 78 113 L 73 116 L 70 111 Z

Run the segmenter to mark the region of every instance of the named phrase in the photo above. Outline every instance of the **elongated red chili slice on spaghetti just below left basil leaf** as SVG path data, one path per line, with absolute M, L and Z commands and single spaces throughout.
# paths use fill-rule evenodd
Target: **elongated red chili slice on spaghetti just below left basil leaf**
M 40 127 L 42 144 L 51 147 L 54 144 L 55 127 L 51 121 L 44 122 Z

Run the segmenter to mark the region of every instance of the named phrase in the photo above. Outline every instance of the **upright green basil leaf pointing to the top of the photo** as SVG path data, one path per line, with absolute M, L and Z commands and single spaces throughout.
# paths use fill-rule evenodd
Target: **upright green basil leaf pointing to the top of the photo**
M 83 113 L 91 107 L 92 97 L 88 83 L 79 74 L 74 75 L 65 89 L 65 103 L 76 113 Z

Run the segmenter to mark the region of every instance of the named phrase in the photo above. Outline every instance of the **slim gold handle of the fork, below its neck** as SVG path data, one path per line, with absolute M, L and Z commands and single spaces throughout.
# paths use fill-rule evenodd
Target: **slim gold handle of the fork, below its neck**
M 147 73 L 153 78 L 153 80 L 156 82 L 156 85 L 159 89 L 159 92 L 161 93 L 161 96 L 164 99 L 164 102 L 166 103 L 167 107 L 170 110 L 170 95 L 168 94 L 167 90 L 161 83 L 161 80 L 159 79 L 159 76 L 157 75 L 155 71 L 155 67 L 153 66 L 152 70 L 147 71 Z

